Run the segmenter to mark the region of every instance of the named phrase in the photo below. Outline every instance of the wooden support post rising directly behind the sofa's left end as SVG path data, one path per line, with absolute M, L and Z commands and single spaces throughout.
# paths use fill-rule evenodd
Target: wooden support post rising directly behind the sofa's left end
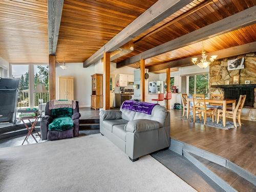
M 110 52 L 103 54 L 103 110 L 110 110 Z

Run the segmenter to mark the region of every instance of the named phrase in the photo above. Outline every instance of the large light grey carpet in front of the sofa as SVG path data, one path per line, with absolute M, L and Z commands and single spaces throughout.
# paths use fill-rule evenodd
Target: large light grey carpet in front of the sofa
M 150 155 L 100 134 L 0 149 L 0 191 L 196 191 Z

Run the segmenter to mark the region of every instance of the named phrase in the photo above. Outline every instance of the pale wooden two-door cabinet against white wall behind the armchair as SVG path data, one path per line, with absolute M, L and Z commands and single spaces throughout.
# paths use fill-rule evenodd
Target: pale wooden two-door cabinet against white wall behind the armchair
M 74 77 L 58 77 L 58 99 L 74 100 Z

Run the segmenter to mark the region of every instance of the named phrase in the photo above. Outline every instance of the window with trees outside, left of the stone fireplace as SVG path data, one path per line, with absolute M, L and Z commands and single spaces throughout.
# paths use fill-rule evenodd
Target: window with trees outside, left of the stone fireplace
M 188 76 L 188 95 L 203 94 L 208 97 L 209 93 L 209 74 Z

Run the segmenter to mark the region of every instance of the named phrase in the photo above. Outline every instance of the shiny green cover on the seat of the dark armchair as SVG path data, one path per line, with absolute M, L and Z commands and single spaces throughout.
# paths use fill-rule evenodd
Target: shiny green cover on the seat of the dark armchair
M 49 124 L 50 131 L 65 131 L 74 127 L 71 117 L 57 117 Z

